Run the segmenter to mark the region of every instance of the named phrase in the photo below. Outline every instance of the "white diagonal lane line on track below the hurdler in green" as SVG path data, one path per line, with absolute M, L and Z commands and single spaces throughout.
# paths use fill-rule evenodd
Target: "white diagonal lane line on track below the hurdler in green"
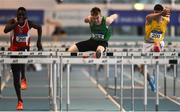
M 94 84 L 97 85 L 97 87 L 100 89 L 100 91 L 112 102 L 114 103 L 119 109 L 121 108 L 121 106 L 113 99 L 113 97 L 111 97 L 107 91 L 100 85 L 100 84 L 97 84 L 97 81 L 90 76 L 89 72 L 87 72 L 85 69 L 82 69 L 81 70 L 82 73 L 87 76 Z M 124 108 L 122 109 L 122 112 L 125 112 Z

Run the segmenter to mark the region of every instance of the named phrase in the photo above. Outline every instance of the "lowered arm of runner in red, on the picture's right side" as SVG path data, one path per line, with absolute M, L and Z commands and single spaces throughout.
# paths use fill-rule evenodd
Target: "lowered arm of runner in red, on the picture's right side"
M 41 37 L 42 37 L 42 27 L 33 23 L 32 21 L 28 21 L 29 27 L 37 30 L 38 39 L 37 39 L 37 48 L 38 50 L 42 50 Z

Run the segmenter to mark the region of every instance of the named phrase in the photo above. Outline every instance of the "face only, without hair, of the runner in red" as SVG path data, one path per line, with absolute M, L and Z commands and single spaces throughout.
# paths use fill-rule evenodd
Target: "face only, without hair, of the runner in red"
M 17 20 L 20 25 L 24 24 L 24 21 L 26 19 L 26 12 L 24 10 L 19 10 L 17 12 Z

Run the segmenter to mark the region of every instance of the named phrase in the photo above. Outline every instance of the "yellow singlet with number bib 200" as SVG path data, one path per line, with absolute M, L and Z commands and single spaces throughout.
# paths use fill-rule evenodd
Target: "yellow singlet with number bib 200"
M 152 20 L 151 23 L 145 25 L 145 42 L 154 42 L 164 40 L 167 29 L 167 17 L 162 17 L 161 22 Z

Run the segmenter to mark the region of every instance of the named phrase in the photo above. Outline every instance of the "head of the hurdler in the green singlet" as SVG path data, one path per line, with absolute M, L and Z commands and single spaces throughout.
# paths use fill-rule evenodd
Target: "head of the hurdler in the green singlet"
M 91 17 L 92 17 L 92 21 L 94 21 L 97 24 L 100 24 L 101 23 L 101 9 L 98 7 L 92 8 Z

